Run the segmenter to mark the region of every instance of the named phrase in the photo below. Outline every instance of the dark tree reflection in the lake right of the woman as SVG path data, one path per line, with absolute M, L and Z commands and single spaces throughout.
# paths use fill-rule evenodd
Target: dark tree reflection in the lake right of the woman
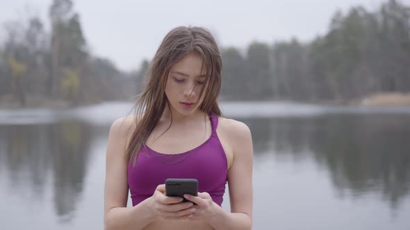
M 379 195 L 397 209 L 410 190 L 410 116 L 333 115 L 243 120 L 255 154 L 314 159 L 339 197 Z M 309 155 L 308 155 L 309 154 Z M 286 157 L 286 156 L 285 156 Z

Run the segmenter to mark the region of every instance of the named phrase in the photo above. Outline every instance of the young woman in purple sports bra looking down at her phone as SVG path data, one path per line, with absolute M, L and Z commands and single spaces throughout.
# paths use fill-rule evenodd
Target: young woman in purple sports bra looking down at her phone
M 247 125 L 222 117 L 221 71 L 206 29 L 181 26 L 165 36 L 136 115 L 110 128 L 105 229 L 252 228 L 252 137 Z M 198 196 L 167 197 L 167 178 L 197 179 Z M 221 208 L 227 182 L 230 213 Z

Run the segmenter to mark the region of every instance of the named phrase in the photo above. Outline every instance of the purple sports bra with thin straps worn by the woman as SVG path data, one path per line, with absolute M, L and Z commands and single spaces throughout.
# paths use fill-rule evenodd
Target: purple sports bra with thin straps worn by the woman
M 207 192 L 212 200 L 222 205 L 228 179 L 225 155 L 216 127 L 218 116 L 210 116 L 212 134 L 197 148 L 179 154 L 163 154 L 145 145 L 128 166 L 128 186 L 133 206 L 154 194 L 156 186 L 167 178 L 195 178 L 198 191 Z

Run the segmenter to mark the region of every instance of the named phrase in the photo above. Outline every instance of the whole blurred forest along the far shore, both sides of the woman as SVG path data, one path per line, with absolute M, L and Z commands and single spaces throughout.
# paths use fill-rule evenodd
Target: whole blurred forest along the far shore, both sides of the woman
M 0 107 L 89 105 L 140 92 L 149 60 L 125 72 L 92 55 L 73 4 L 51 3 L 51 28 L 33 16 L 0 29 Z M 388 0 L 375 12 L 338 10 L 327 33 L 310 42 L 295 37 L 220 50 L 222 100 L 345 102 L 409 93 L 410 7 Z

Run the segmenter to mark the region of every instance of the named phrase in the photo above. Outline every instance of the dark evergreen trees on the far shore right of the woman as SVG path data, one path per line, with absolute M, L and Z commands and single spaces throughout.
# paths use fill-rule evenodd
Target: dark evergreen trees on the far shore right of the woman
M 244 55 L 245 53 L 245 55 Z M 231 100 L 354 100 L 410 91 L 410 8 L 399 1 L 376 12 L 337 11 L 327 34 L 224 48 L 224 98 Z

